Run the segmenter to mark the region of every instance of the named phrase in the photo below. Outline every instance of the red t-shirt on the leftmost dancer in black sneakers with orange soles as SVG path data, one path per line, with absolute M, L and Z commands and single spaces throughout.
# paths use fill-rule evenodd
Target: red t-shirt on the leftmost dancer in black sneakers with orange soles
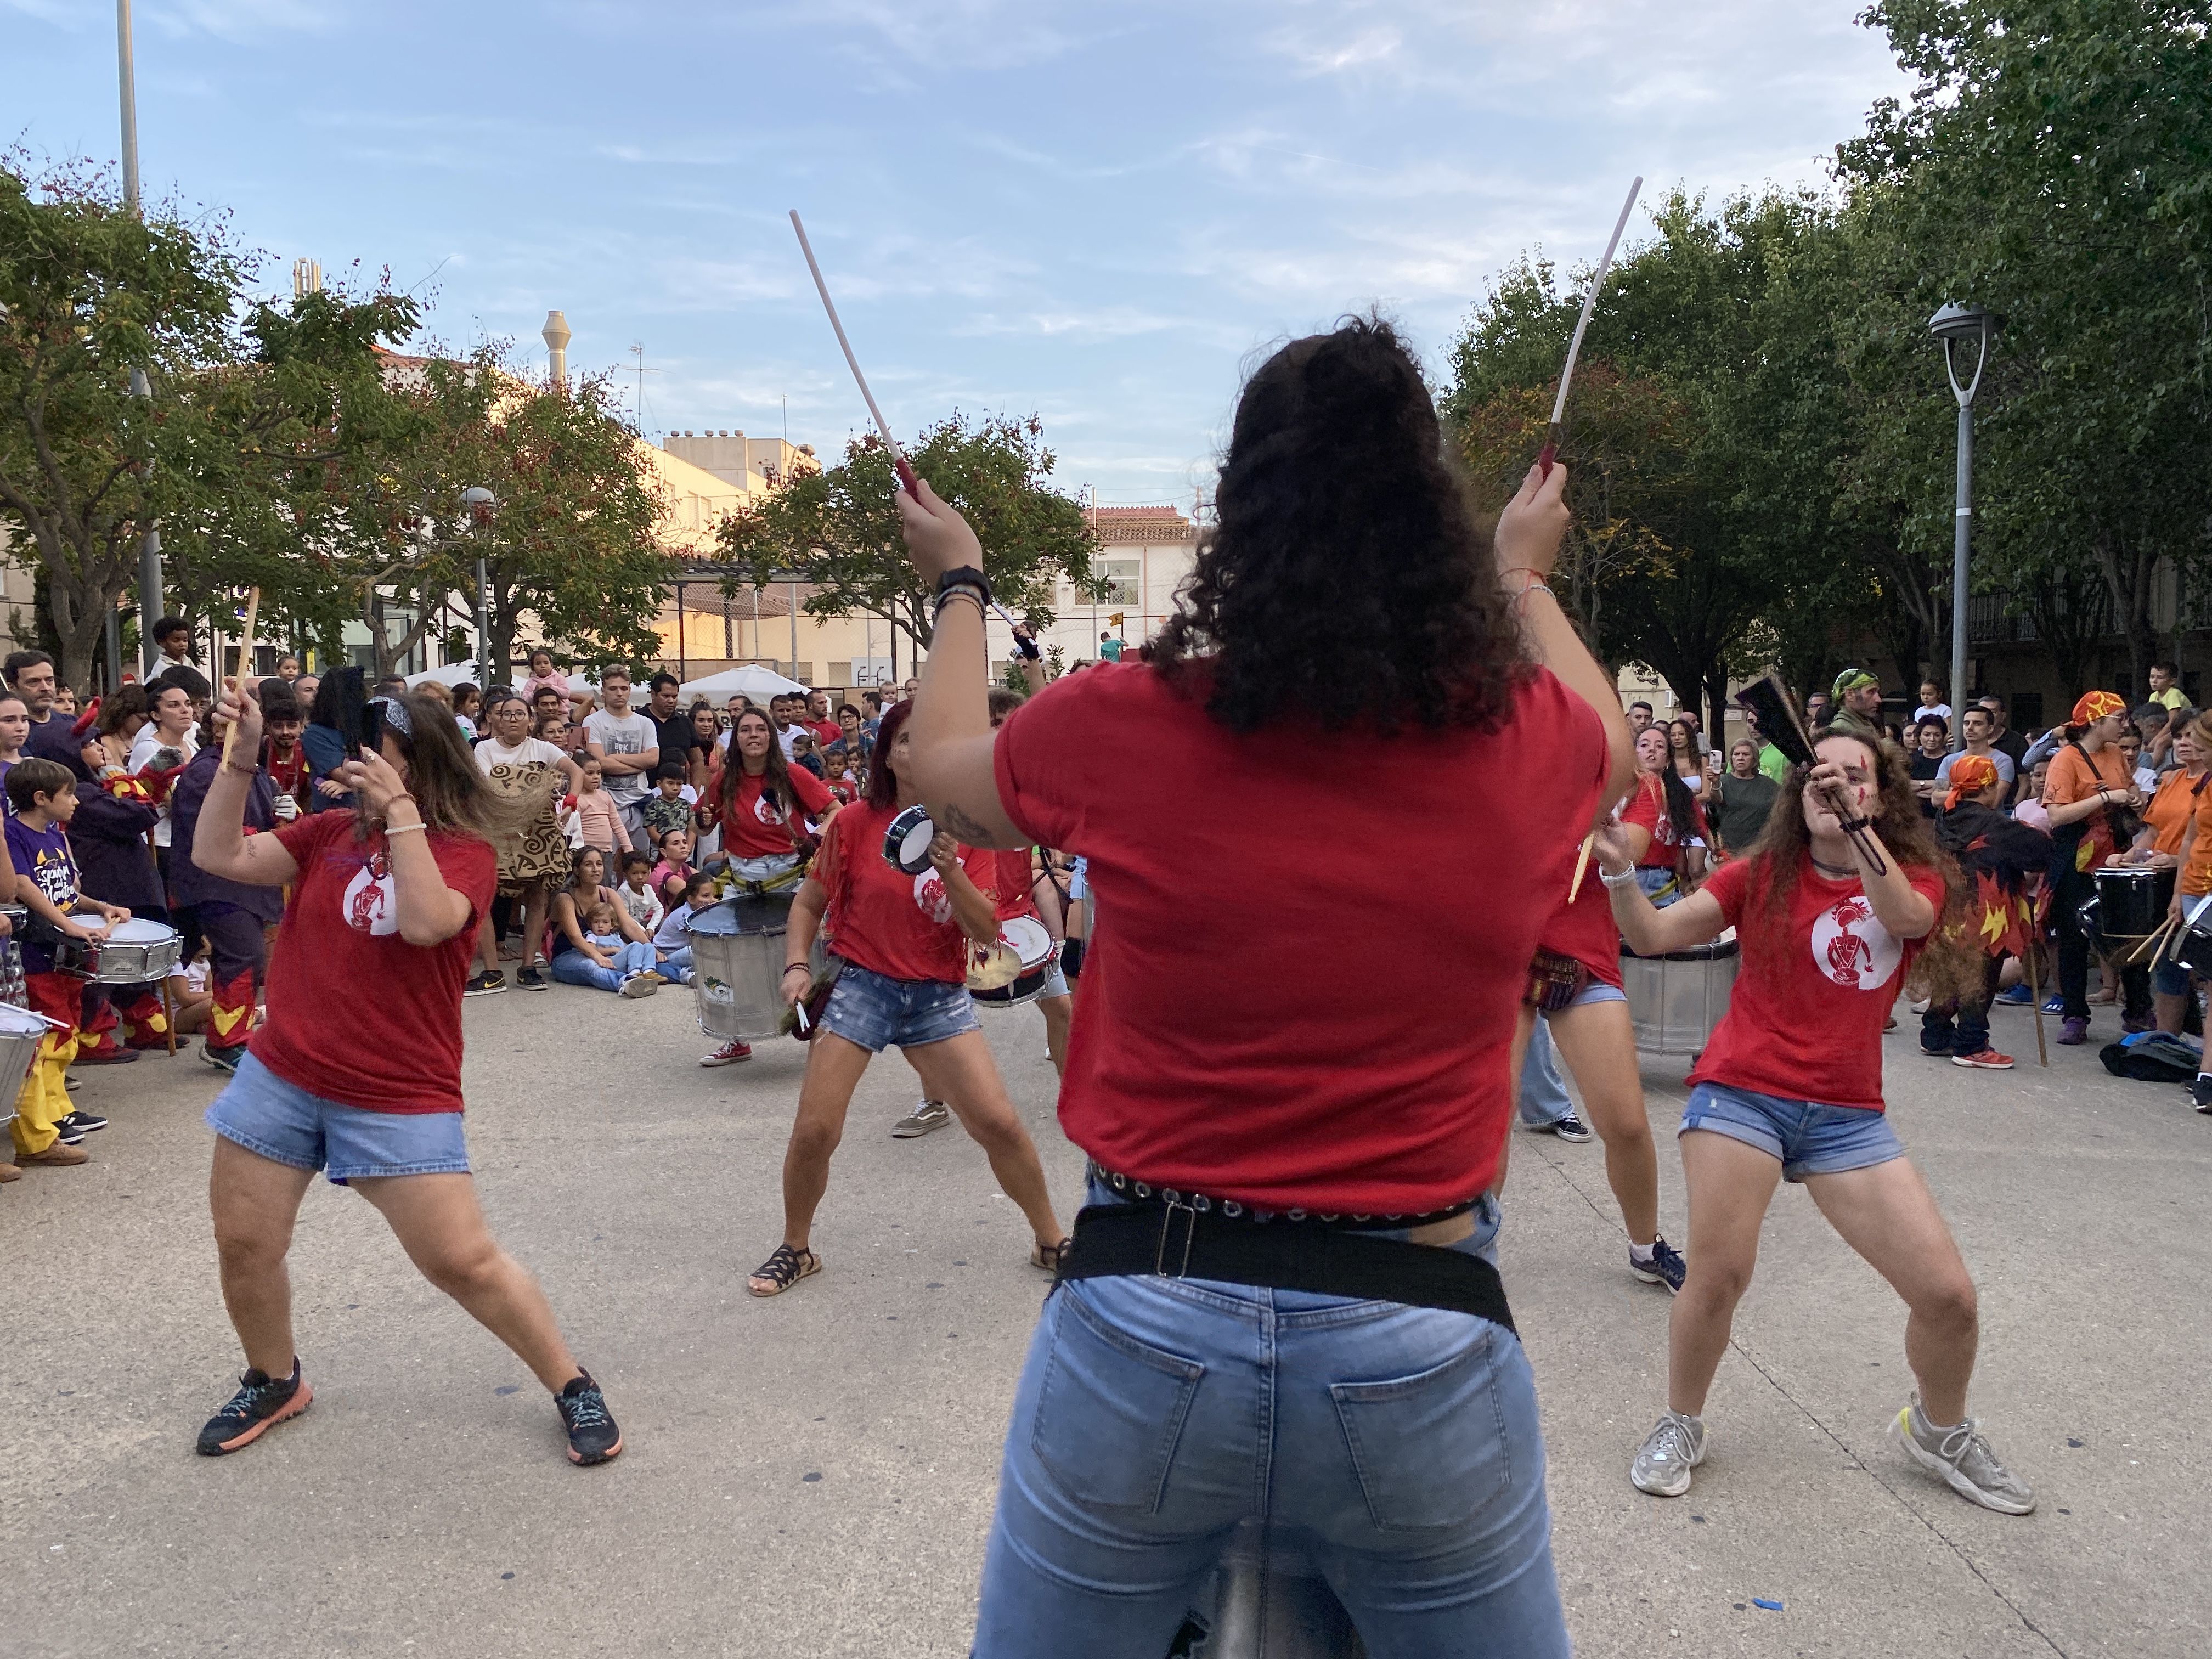
M 400 938 L 383 832 L 354 841 L 352 812 L 276 832 L 299 863 L 268 971 L 268 1022 L 252 1055 L 294 1088 L 369 1113 L 460 1110 L 460 987 L 500 860 L 476 836 L 431 834 L 469 922 L 445 945 Z

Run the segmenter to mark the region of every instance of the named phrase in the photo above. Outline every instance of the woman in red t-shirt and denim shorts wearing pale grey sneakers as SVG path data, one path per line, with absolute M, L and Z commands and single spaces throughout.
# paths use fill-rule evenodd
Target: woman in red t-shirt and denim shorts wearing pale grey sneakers
M 1690 1491 L 1705 1460 L 1705 1391 L 1752 1283 L 1759 1223 L 1787 1179 L 1805 1183 L 1911 1310 L 1905 1360 L 1920 1387 L 1891 1438 L 1962 1498 L 2026 1515 L 2035 1493 L 1966 1416 L 1980 1336 L 1973 1279 L 1882 1110 L 1882 1020 L 1900 982 L 1911 973 L 1947 984 L 1971 971 L 1973 942 L 1944 925 L 1964 909 L 1964 883 L 1920 814 L 1898 748 L 1827 728 L 1814 757 L 1752 854 L 1670 909 L 1652 909 L 1637 885 L 1628 836 L 1597 832 L 1599 878 L 1630 949 L 1686 951 L 1725 927 L 1743 947 L 1728 1015 L 1690 1073 L 1690 1276 L 1668 1332 L 1668 1409 L 1628 1478 L 1659 1498 Z

